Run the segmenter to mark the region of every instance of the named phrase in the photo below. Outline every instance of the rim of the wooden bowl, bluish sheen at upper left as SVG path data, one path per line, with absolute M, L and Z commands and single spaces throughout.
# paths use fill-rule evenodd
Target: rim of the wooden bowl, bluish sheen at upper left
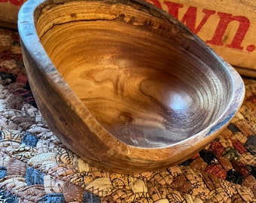
M 44 50 L 44 47 L 42 46 L 40 39 L 38 38 L 38 33 L 35 29 L 35 17 L 34 12 L 35 9 L 38 8 L 38 6 L 43 5 L 45 2 L 53 2 L 53 3 L 59 3 L 59 2 L 79 2 L 84 0 L 29 0 L 23 4 L 23 6 L 20 8 L 19 14 L 18 14 L 18 30 L 20 34 L 20 41 L 22 44 L 22 51 L 23 53 L 28 52 L 33 59 L 35 59 L 36 65 L 38 68 L 40 68 L 40 71 L 42 74 L 44 74 L 47 77 L 48 82 L 54 89 L 58 89 L 62 98 L 65 99 L 65 101 L 69 102 L 71 108 L 74 108 L 74 111 L 76 114 L 79 115 L 79 117 L 83 118 L 83 116 L 90 113 L 90 111 L 87 110 L 86 106 L 81 102 L 81 100 L 78 98 L 77 95 L 75 95 L 75 92 L 72 92 L 72 89 L 69 88 L 69 85 L 66 83 L 66 81 L 60 76 L 59 72 L 57 71 L 56 67 L 53 65 L 53 62 L 51 62 L 49 56 L 47 56 L 46 51 Z M 96 0 L 92 0 L 96 1 Z M 104 0 L 108 1 L 108 0 Z M 104 2 L 101 1 L 101 2 Z M 115 2 L 112 1 L 112 2 Z M 122 1 L 123 2 L 123 1 Z M 147 7 L 150 7 L 154 11 L 162 12 L 163 15 L 166 15 L 170 20 L 173 21 L 173 23 L 177 23 L 178 20 L 175 20 L 174 18 L 170 17 L 169 14 L 166 12 L 160 11 L 159 8 L 154 7 L 153 5 L 150 5 L 147 2 L 142 2 L 140 0 L 126 0 L 126 2 L 138 2 L 139 4 L 144 4 Z M 162 14 L 161 13 L 161 14 Z M 202 131 L 198 132 L 195 135 L 191 135 L 189 138 L 186 138 L 182 141 L 178 141 L 175 144 L 170 144 L 165 147 L 135 147 L 132 145 L 125 144 L 121 141 L 118 141 L 117 138 L 115 138 L 111 133 L 109 133 L 104 127 L 96 120 L 96 118 L 93 117 L 93 115 L 90 115 L 90 120 L 94 120 L 95 123 L 97 123 L 99 126 L 102 127 L 102 132 L 105 133 L 105 135 L 108 135 L 108 138 L 110 139 L 108 142 L 103 141 L 108 147 L 112 148 L 114 150 L 112 153 L 121 153 L 121 156 L 131 156 L 129 159 L 139 159 L 137 156 L 132 156 L 134 154 L 133 152 L 138 152 L 140 154 L 144 153 L 145 151 L 148 151 L 149 154 L 154 154 L 156 152 L 159 152 L 159 150 L 162 150 L 162 153 L 166 156 L 173 151 L 173 148 L 178 149 L 181 147 L 184 150 L 184 153 L 188 153 L 188 150 L 191 148 L 190 144 L 187 144 L 187 141 L 192 141 L 194 144 L 198 144 L 200 141 L 202 141 L 202 138 L 211 138 L 212 136 L 217 136 L 217 132 L 220 129 L 224 129 L 225 126 L 230 122 L 230 120 L 235 116 L 236 112 L 239 110 L 240 106 L 242 105 L 244 96 L 245 96 L 245 86 L 242 81 L 242 77 L 238 74 L 238 72 L 224 59 L 221 58 L 221 56 L 218 56 L 212 48 L 210 48 L 208 45 L 206 45 L 197 35 L 194 35 L 191 33 L 187 27 L 179 23 L 179 26 L 181 26 L 182 31 L 186 32 L 188 37 L 194 38 L 195 41 L 197 41 L 197 44 L 200 44 L 200 46 L 206 47 L 207 50 L 212 54 L 215 59 L 217 59 L 220 64 L 223 64 L 223 68 L 225 68 L 225 71 L 229 74 L 231 87 L 233 88 L 232 91 L 232 98 L 230 98 L 230 103 L 227 105 L 227 108 L 224 109 L 223 113 L 220 114 L 218 118 L 216 118 L 211 125 L 207 126 Z M 66 89 L 65 94 L 61 93 L 62 89 Z M 61 91 L 60 91 L 61 90 Z M 66 92 L 69 92 L 66 94 Z M 237 96 L 241 95 L 241 96 Z M 72 99 L 70 99 L 72 98 Z M 88 117 L 88 115 L 87 115 Z M 83 119 L 84 120 L 84 119 Z M 84 121 L 86 122 L 86 121 Z M 91 129 L 93 131 L 93 129 Z M 99 136 L 99 139 L 102 139 Z M 113 149 L 113 143 L 116 142 L 116 148 Z M 209 142 L 208 142 L 209 144 Z M 192 145 L 193 147 L 193 145 Z M 202 148 L 202 147 L 201 147 Z M 122 150 L 120 150 L 122 149 Z M 72 149 L 70 149 L 72 150 Z M 164 156 L 163 156 L 164 157 Z M 161 157 L 151 157 L 152 159 L 162 160 Z M 149 157 L 148 157 L 149 159 Z M 166 158 L 164 158 L 166 159 Z

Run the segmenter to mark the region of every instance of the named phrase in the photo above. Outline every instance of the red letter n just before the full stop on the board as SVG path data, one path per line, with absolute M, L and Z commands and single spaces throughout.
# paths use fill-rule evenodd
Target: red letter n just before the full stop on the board
M 224 46 L 222 38 L 227 30 L 227 26 L 236 21 L 239 23 L 239 26 L 236 30 L 236 34 L 233 37 L 233 40 L 230 44 L 226 44 L 225 47 L 230 47 L 237 50 L 242 50 L 242 40 L 245 38 L 246 32 L 250 26 L 250 21 L 247 17 L 242 16 L 232 16 L 232 14 L 225 14 L 225 13 L 218 13 L 220 20 L 218 22 L 218 26 L 215 29 L 215 34 L 213 35 L 212 39 L 206 41 L 207 44 L 213 44 L 218 46 Z

